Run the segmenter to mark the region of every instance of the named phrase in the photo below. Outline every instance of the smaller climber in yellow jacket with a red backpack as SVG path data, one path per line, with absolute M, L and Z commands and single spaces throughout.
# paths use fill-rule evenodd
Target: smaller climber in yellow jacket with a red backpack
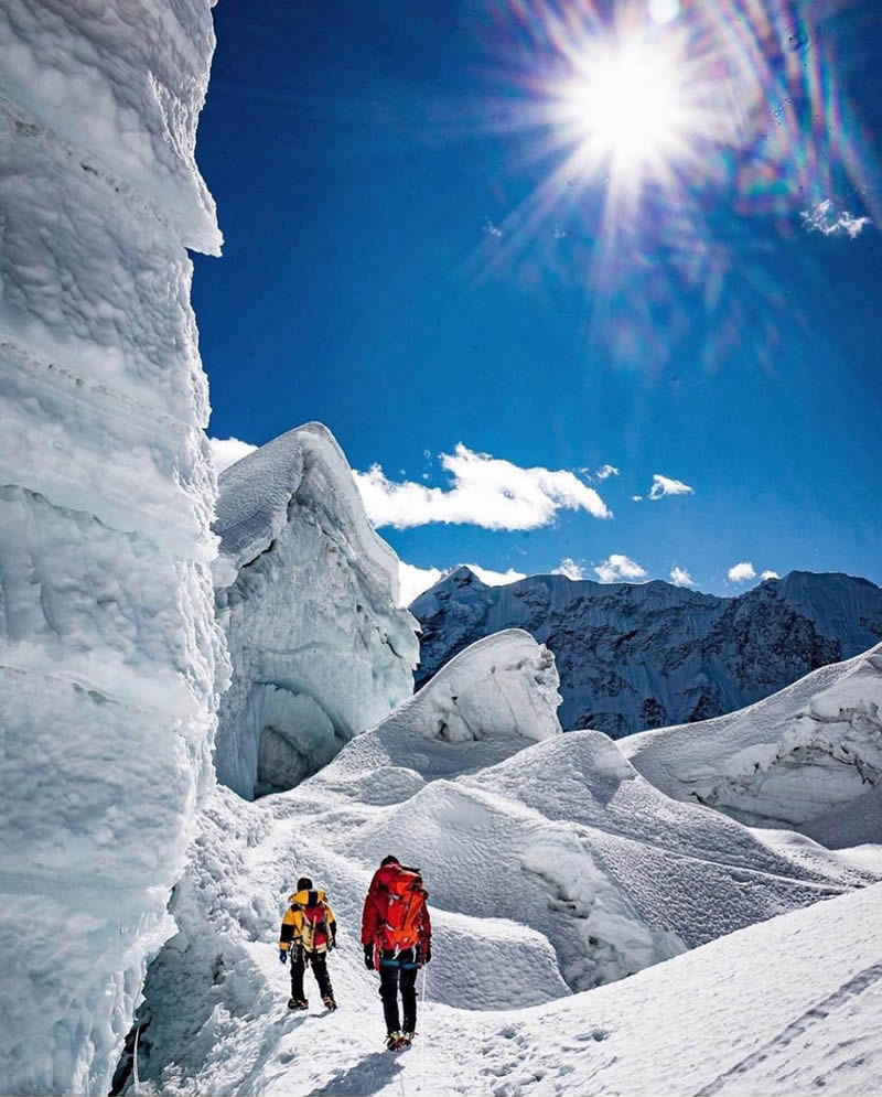
M 327 953 L 336 946 L 337 924 L 327 896 L 312 886 L 309 876 L 301 876 L 297 891 L 288 896 L 288 910 L 282 918 L 279 935 L 279 960 L 288 962 L 291 956 L 291 1010 L 309 1009 L 303 991 L 303 975 L 306 965 L 312 965 L 312 974 L 319 983 L 319 992 L 325 1009 L 335 1010 L 334 991 L 327 974 Z

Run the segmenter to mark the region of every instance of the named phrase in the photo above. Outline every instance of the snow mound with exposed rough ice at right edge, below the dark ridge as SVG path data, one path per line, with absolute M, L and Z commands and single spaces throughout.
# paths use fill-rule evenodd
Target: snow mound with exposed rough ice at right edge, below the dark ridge
M 761 826 L 832 846 L 882 841 L 882 645 L 703 723 L 631 735 L 622 751 L 654 785 Z

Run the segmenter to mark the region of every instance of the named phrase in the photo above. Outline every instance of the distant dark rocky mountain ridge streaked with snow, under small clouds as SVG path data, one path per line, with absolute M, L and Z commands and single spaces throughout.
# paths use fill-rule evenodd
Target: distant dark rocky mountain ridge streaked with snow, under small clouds
M 882 639 L 882 589 L 804 571 L 723 599 L 563 576 L 487 587 L 459 568 L 410 610 L 418 686 L 478 637 L 525 628 L 555 653 L 563 727 L 613 739 L 743 708 Z

